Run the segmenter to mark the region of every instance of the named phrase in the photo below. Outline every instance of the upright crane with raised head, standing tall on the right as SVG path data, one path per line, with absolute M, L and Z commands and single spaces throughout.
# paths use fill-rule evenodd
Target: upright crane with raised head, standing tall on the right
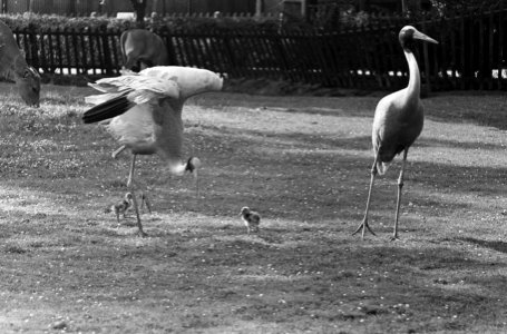
M 420 99 L 421 78 L 416 57 L 413 56 L 413 47 L 417 39 L 438 43 L 435 39 L 426 36 L 411 26 L 403 27 L 399 33 L 399 41 L 409 66 L 409 85 L 404 89 L 383 97 L 376 108 L 371 137 L 374 161 L 371 167 L 367 208 L 362 223 L 353 233 L 357 234 L 361 230 L 362 238 L 364 238 L 365 229 L 374 235 L 368 225 L 368 212 L 370 209 L 371 190 L 376 176 L 377 174 L 383 175 L 394 156 L 403 153 L 403 161 L 398 178 L 398 198 L 396 205 L 394 232 L 392 235 L 392 239 L 398 238 L 398 218 L 400 214 L 401 188 L 403 187 L 407 155 L 410 146 L 421 134 L 425 121 Z

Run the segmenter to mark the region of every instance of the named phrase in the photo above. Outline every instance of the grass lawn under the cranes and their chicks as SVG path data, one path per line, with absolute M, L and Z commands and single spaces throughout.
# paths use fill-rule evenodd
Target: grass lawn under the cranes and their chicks
M 0 333 L 505 333 L 507 97 L 437 95 L 409 153 L 373 190 L 379 97 L 208 94 L 184 111 L 191 177 L 138 159 L 143 215 L 117 224 L 129 155 L 82 125 L 87 88 L 1 85 Z M 261 213 L 247 236 L 242 206 Z

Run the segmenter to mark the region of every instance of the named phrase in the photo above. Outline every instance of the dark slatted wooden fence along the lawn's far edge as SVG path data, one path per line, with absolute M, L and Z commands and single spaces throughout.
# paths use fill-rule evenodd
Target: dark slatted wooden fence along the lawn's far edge
M 326 87 L 392 90 L 407 84 L 398 32 L 384 20 L 341 32 L 251 30 L 157 31 L 173 65 L 232 78 L 273 78 Z M 423 82 L 433 90 L 507 89 L 507 11 L 450 17 L 415 24 L 439 40 L 420 43 Z M 48 75 L 117 75 L 119 30 L 16 30 L 27 60 Z

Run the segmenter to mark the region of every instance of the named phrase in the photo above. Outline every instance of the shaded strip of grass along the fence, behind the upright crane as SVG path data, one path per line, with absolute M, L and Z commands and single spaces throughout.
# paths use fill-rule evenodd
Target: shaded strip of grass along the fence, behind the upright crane
M 379 100 L 389 92 L 378 96 L 321 98 L 305 97 L 298 100 L 298 107 L 291 97 L 266 97 L 242 94 L 222 94 L 197 97 L 195 101 L 202 106 L 215 107 L 223 105 L 225 99 L 227 108 L 236 106 L 261 108 L 290 114 L 309 114 L 325 116 L 370 117 Z M 490 126 L 498 129 L 507 129 L 507 99 L 503 95 L 488 92 L 486 95 L 466 96 L 457 94 L 435 94 L 422 101 L 427 119 L 440 122 L 470 122 L 479 126 Z

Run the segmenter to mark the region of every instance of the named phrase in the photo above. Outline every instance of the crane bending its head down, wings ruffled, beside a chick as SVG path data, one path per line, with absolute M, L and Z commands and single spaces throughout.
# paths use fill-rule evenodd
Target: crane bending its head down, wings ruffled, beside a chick
M 193 174 L 198 190 L 197 168 L 201 161 L 196 157 L 186 160 L 182 157 L 183 105 L 194 95 L 221 90 L 223 79 L 205 69 L 160 66 L 139 73 L 130 71 L 120 77 L 104 78 L 89 85 L 104 94 L 86 98 L 87 102 L 96 106 L 84 114 L 82 120 L 85 124 L 106 124 L 108 131 L 121 145 L 113 153 L 114 158 L 125 149 L 131 151 L 127 188 L 133 193 L 138 234 L 146 236 L 133 189 L 136 157 L 157 154 L 167 163 L 172 174 Z M 143 199 L 146 199 L 145 194 Z

